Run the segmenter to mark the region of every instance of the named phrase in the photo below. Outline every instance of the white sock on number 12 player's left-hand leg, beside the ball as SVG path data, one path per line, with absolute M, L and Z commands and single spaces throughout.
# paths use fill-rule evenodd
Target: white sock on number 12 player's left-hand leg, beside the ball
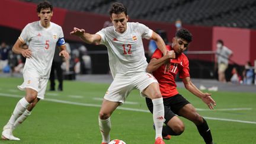
M 101 120 L 99 117 L 98 120 L 99 120 L 101 135 L 103 137 L 102 142 L 108 143 L 110 142 L 110 129 L 111 129 L 110 117 L 108 117 L 107 120 Z

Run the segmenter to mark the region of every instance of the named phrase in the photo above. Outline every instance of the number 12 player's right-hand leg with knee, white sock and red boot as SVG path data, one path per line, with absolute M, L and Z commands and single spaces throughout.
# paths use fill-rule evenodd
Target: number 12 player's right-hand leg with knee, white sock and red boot
M 153 82 L 146 89 L 144 89 L 143 94 L 151 98 L 153 103 L 153 121 L 155 123 L 155 143 L 164 143 L 162 140 L 162 126 L 164 123 L 164 102 L 159 89 L 159 84 Z

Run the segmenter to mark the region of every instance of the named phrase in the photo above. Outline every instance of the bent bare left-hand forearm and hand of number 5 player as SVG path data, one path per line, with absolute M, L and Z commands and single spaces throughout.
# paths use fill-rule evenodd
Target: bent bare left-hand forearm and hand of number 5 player
M 23 41 L 21 41 L 20 39 L 17 39 L 14 46 L 12 47 L 12 52 L 21 54 L 24 57 L 30 58 L 32 56 L 32 51 L 29 48 L 23 49 L 22 47 L 23 44 L 24 44 Z

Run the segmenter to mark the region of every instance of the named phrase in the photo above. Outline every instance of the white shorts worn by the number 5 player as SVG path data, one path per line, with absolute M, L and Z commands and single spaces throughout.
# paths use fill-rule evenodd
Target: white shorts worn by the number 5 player
M 24 69 L 23 78 L 24 82 L 22 85 L 18 85 L 18 89 L 21 91 L 25 91 L 25 88 L 34 89 L 37 91 L 37 98 L 43 100 L 49 79 L 41 78 L 39 73 L 34 69 Z

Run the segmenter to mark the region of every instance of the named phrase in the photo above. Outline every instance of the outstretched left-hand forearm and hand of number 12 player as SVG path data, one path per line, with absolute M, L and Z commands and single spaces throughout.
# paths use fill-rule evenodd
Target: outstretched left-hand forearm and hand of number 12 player
M 85 43 L 88 43 L 88 44 L 99 43 L 101 40 L 100 35 L 85 33 L 84 29 L 79 29 L 76 27 L 73 28 L 73 31 L 71 31 L 70 34 L 73 36 L 80 37 L 81 40 L 85 41 Z

